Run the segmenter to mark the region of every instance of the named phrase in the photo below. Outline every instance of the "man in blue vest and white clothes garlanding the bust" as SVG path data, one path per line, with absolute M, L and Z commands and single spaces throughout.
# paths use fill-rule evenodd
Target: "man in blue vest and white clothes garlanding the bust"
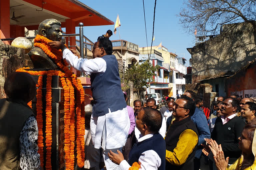
M 95 148 L 102 147 L 107 170 L 118 170 L 119 166 L 110 161 L 107 153 L 110 149 L 116 153 L 117 150 L 122 150 L 128 136 L 130 120 L 121 90 L 118 62 L 112 55 L 112 42 L 107 38 L 99 39 L 93 46 L 93 59 L 89 60 L 78 58 L 61 42 L 49 44 L 62 49 L 63 59 L 73 68 L 90 74 L 94 99 L 90 121 L 92 143 Z

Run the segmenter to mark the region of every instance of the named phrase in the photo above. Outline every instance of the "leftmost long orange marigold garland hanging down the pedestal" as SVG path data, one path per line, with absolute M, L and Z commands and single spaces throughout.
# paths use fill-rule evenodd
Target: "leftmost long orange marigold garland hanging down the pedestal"
M 38 89 L 36 90 L 36 121 L 38 126 L 38 139 L 37 139 L 37 146 L 38 146 L 38 153 L 40 154 L 40 162 L 41 166 L 44 166 L 44 137 L 43 137 L 43 76 L 38 77 L 37 84 L 39 85 Z

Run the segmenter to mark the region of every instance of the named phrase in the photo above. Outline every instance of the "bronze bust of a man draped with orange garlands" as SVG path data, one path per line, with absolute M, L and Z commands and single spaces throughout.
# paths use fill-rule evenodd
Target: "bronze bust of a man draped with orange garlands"
M 46 19 L 39 24 L 38 35 L 44 36 L 52 41 L 61 41 L 61 23 L 56 19 Z M 39 47 L 33 48 L 28 53 L 34 68 L 58 69 L 59 67 Z

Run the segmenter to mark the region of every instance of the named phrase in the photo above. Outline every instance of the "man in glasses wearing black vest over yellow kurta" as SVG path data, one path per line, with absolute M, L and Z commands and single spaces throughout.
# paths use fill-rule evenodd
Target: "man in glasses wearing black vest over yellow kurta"
M 187 170 L 194 167 L 198 131 L 190 116 L 195 109 L 195 102 L 187 96 L 177 99 L 173 105 L 175 120 L 165 136 L 166 169 Z

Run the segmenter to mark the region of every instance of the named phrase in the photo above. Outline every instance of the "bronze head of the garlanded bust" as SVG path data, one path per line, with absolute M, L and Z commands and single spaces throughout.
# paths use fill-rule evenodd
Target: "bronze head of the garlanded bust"
M 39 24 L 37 34 L 52 41 L 61 41 L 61 23 L 56 19 L 46 19 Z

